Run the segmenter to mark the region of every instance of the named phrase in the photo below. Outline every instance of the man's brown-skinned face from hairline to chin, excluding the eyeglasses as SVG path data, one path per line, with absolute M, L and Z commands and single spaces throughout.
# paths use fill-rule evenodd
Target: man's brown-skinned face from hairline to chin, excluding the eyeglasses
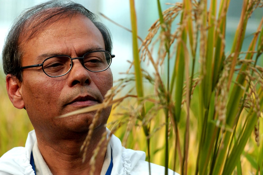
M 61 18 L 20 45 L 22 66 L 40 64 L 52 55 L 82 57 L 93 50 L 105 50 L 104 40 L 95 25 L 82 15 Z M 73 60 L 73 63 L 69 73 L 55 78 L 47 76 L 41 67 L 23 70 L 20 93 L 36 133 L 87 131 L 95 112 L 60 119 L 56 117 L 101 103 L 112 87 L 110 68 L 103 72 L 90 72 L 80 60 Z M 97 127 L 106 123 L 110 110 L 111 107 L 103 110 Z

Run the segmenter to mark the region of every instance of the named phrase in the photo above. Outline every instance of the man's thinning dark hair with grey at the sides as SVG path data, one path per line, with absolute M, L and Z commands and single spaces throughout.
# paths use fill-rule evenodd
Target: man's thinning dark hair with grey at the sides
M 54 23 L 62 16 L 73 16 L 74 14 L 82 14 L 94 23 L 103 36 L 105 50 L 111 53 L 112 41 L 110 32 L 103 23 L 97 20 L 95 14 L 90 12 L 83 5 L 74 3 L 70 0 L 52 0 L 27 9 L 18 16 L 13 23 L 6 37 L 2 52 L 5 74 L 14 75 L 22 82 L 23 79 L 19 69 L 21 67 L 21 57 L 23 54 L 19 51 L 21 40 L 33 38 L 41 31 L 42 26 L 49 24 L 50 19 L 52 19 L 52 23 Z M 27 37 L 23 38 L 24 36 Z

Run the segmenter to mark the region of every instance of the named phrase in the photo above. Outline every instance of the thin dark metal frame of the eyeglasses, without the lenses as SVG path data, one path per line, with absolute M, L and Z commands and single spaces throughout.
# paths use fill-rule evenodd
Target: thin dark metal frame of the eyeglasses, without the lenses
M 23 67 L 20 67 L 19 70 L 21 71 L 21 70 L 27 69 L 27 68 L 35 68 L 35 67 L 40 67 L 40 66 L 42 66 L 42 71 L 43 71 L 47 76 L 52 77 L 52 78 L 61 77 L 61 76 L 66 75 L 67 73 L 69 73 L 69 72 L 71 71 L 71 69 L 72 69 L 72 67 L 73 67 L 73 60 L 76 60 L 76 59 L 82 59 L 82 61 L 80 61 L 80 62 L 81 62 L 81 65 L 82 65 L 85 69 L 87 69 L 88 71 L 90 71 L 90 72 L 102 72 L 102 71 L 107 70 L 107 69 L 110 67 L 110 64 L 108 65 L 107 68 L 105 68 L 105 69 L 103 69 L 103 70 L 100 70 L 100 71 L 92 71 L 92 70 L 89 70 L 88 68 L 86 68 L 86 66 L 84 65 L 84 61 L 83 61 L 83 60 L 84 60 L 84 57 L 85 57 L 86 55 L 88 55 L 88 54 L 90 54 L 90 53 L 94 53 L 94 52 L 106 52 L 106 53 L 110 54 L 110 64 L 111 64 L 111 62 L 112 62 L 112 58 L 115 57 L 115 55 L 112 55 L 109 51 L 91 51 L 91 52 L 85 53 L 82 57 L 76 57 L 76 58 L 71 58 L 69 55 L 55 55 L 55 56 L 46 58 L 41 64 L 30 65 L 30 66 L 23 66 Z M 50 75 L 48 75 L 48 74 L 44 71 L 44 67 L 43 67 L 44 62 L 45 62 L 46 60 L 50 59 L 50 58 L 60 57 L 60 56 L 66 56 L 66 57 L 70 58 L 70 60 L 71 60 L 71 62 L 72 62 L 71 66 L 70 66 L 70 69 L 69 69 L 66 73 L 64 73 L 64 74 L 62 74 L 62 75 L 58 75 L 58 76 L 50 76 Z

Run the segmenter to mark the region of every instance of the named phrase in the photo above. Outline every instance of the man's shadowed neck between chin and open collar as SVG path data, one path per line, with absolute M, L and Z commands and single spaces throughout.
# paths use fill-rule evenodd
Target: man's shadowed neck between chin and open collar
M 48 143 L 45 141 L 42 142 L 42 139 L 38 139 L 38 148 L 52 174 L 89 174 L 92 168 L 90 159 L 103 134 L 103 132 L 95 133 L 96 134 L 92 136 L 90 144 L 88 145 L 88 151 L 84 162 L 82 162 L 83 152 L 80 151 L 80 148 L 87 134 L 82 133 L 76 135 L 76 139 L 56 140 Z M 95 159 L 95 175 L 101 172 L 106 153 L 106 149 L 104 148 L 106 148 L 106 146 L 105 140 Z

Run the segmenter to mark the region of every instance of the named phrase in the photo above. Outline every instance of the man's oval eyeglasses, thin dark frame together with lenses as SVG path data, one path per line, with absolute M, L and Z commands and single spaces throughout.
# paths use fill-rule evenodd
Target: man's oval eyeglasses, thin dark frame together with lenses
M 68 55 L 56 55 L 46 58 L 41 64 L 20 67 L 20 70 L 42 66 L 43 72 L 49 77 L 60 77 L 66 75 L 73 66 L 73 61 L 79 59 L 82 66 L 91 72 L 102 72 L 110 67 L 115 55 L 108 51 L 92 51 L 83 57 L 71 58 Z

